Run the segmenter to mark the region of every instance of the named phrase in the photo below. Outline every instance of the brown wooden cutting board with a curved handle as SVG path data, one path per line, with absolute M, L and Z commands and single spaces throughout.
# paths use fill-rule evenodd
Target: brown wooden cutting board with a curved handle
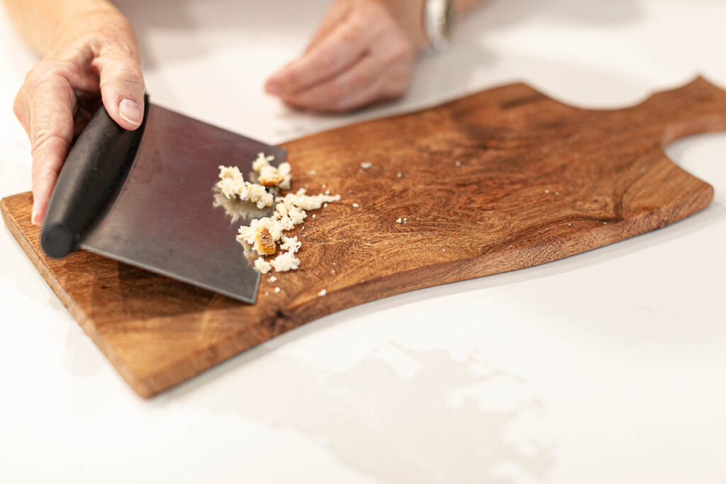
M 726 91 L 698 78 L 608 111 L 513 84 L 290 141 L 294 188 L 327 184 L 343 200 L 297 228 L 300 270 L 274 284 L 264 276 L 255 305 L 91 253 L 49 260 L 30 193 L 1 208 L 68 311 L 150 397 L 334 311 L 554 261 L 696 213 L 713 189 L 662 147 L 725 129 Z

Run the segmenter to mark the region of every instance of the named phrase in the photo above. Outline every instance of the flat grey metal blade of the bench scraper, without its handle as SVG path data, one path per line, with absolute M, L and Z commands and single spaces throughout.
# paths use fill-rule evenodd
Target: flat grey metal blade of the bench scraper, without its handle
M 253 218 L 269 216 L 214 189 L 219 165 L 250 180 L 258 152 L 287 152 L 149 104 L 136 158 L 113 203 L 81 248 L 254 303 L 260 274 L 235 239 Z

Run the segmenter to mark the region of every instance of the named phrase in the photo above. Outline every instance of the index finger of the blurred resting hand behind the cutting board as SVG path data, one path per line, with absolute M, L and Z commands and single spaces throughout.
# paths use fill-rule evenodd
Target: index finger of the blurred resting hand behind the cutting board
M 375 28 L 357 19 L 343 22 L 320 44 L 273 74 L 265 85 L 270 94 L 290 94 L 327 81 L 367 52 Z

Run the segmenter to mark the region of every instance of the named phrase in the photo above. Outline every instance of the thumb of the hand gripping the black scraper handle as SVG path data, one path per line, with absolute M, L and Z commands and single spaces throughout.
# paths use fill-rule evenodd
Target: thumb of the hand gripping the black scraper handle
M 98 67 L 101 98 L 110 117 L 125 129 L 136 129 L 144 119 L 144 76 L 131 57 L 101 56 Z

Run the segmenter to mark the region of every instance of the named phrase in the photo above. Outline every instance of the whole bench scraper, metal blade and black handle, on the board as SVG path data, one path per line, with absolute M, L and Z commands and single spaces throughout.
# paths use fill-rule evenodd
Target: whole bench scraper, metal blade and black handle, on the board
M 41 246 L 52 258 L 83 249 L 254 303 L 260 274 L 237 228 L 272 208 L 230 218 L 215 203 L 219 165 L 250 180 L 258 152 L 280 147 L 245 138 L 146 99 L 142 126 L 126 131 L 102 106 L 70 149 L 46 212 Z

